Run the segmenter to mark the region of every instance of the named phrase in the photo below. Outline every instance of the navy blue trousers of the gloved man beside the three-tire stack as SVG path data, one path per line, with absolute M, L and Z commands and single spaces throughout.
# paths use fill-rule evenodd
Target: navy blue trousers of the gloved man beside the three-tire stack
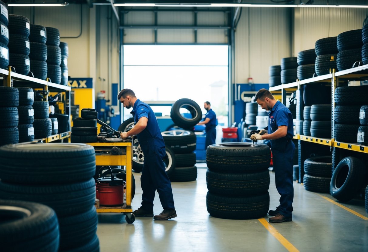
M 293 156 L 295 145 L 289 140 L 284 150 L 272 145 L 273 171 L 275 172 L 276 189 L 280 194 L 279 212 L 285 217 L 291 217 L 293 212 L 294 185 L 293 185 Z

